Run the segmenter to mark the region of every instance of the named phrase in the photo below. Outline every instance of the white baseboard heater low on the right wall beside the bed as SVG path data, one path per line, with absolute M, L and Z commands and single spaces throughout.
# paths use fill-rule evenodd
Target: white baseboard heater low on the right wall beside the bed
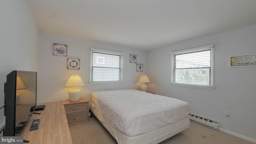
M 215 130 L 220 130 L 219 128 L 219 122 L 216 122 L 214 120 L 209 120 L 208 118 L 203 118 L 201 116 L 196 116 L 194 114 L 189 114 L 189 119 L 193 122 L 202 124 L 204 126 L 208 126 L 210 128 L 213 128 Z

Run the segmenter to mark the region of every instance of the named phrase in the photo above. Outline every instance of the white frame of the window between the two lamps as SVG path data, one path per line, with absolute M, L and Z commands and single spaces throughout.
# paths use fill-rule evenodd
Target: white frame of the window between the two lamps
M 119 70 L 120 72 L 118 73 L 118 78 L 119 80 L 103 80 L 103 81 L 93 81 L 93 62 L 92 62 L 92 56 L 93 53 L 101 53 L 101 54 L 106 54 L 106 55 L 116 55 L 120 57 L 119 60 Z M 90 50 L 90 77 L 89 77 L 89 84 L 102 84 L 102 83 L 110 83 L 110 84 L 114 84 L 114 83 L 122 83 L 123 82 L 123 62 L 124 61 L 124 53 L 121 52 L 113 52 L 113 51 L 108 51 L 108 50 L 100 50 L 100 49 L 95 49 L 95 48 L 91 48 Z M 111 67 L 110 67 L 111 68 Z

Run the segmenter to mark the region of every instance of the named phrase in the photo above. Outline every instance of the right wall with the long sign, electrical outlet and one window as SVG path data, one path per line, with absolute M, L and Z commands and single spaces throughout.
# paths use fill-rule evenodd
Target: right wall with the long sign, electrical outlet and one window
M 170 52 L 214 45 L 214 90 L 170 84 Z M 256 54 L 256 25 L 148 52 L 149 91 L 188 102 L 192 114 L 220 122 L 222 131 L 256 142 L 256 67 L 230 67 L 230 56 Z M 230 111 L 230 117 L 225 116 Z

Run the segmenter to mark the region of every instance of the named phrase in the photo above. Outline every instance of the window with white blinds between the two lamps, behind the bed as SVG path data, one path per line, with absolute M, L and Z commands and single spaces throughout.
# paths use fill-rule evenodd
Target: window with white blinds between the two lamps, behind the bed
M 122 82 L 123 55 L 91 49 L 90 82 Z

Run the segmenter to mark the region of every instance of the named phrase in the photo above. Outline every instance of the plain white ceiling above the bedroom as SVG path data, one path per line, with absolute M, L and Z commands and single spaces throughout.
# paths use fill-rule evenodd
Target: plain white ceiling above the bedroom
M 38 29 L 152 50 L 256 24 L 256 0 L 27 0 Z

